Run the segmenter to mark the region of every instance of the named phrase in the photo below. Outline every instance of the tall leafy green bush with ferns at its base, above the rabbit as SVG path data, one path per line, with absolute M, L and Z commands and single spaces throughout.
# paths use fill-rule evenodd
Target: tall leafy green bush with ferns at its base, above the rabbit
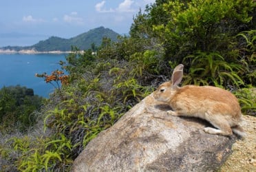
M 237 34 L 255 29 L 254 7 L 253 0 L 156 1 L 136 16 L 131 36 L 142 38 L 151 30 L 147 36 L 163 47 L 164 61 L 186 66 L 185 83 L 239 87 L 251 62 L 244 61 L 245 41 Z

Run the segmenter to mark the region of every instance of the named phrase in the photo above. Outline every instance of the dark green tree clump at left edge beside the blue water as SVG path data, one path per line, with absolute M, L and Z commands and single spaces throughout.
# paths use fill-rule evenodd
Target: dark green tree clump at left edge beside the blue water
M 39 110 L 43 98 L 26 87 L 10 86 L 0 90 L 1 132 L 26 131 L 36 122 L 34 111 Z

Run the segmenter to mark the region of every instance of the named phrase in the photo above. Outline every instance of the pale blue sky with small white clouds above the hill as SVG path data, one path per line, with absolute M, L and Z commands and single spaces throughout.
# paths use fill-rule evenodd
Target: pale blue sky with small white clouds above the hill
M 128 34 L 133 17 L 155 0 L 0 0 L 0 47 L 70 39 L 103 26 Z

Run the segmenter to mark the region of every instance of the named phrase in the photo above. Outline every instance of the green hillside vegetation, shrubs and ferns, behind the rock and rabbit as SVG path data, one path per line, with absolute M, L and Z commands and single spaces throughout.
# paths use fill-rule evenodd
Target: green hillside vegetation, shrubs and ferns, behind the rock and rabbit
M 255 116 L 255 14 L 253 0 L 156 0 L 134 17 L 129 37 L 104 38 L 84 52 L 72 47 L 67 63 L 60 63 L 68 82 L 41 109 L 45 132 L 3 142 L 2 170 L 69 171 L 92 138 L 167 80 L 178 63 L 185 65 L 183 85 L 229 89 L 243 113 Z

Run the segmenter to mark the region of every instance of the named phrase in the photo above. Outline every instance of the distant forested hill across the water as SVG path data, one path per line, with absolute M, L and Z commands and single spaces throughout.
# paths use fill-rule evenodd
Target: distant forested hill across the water
M 14 51 L 34 49 L 38 52 L 50 52 L 50 51 L 66 52 L 71 50 L 71 46 L 76 46 L 80 50 L 87 50 L 91 47 L 92 43 L 94 43 L 96 46 L 100 45 L 104 37 L 111 39 L 111 41 L 117 41 L 118 35 L 119 34 L 114 32 L 113 30 L 100 27 L 100 28 L 89 30 L 88 32 L 85 32 L 83 34 L 79 34 L 78 36 L 75 36 L 71 39 L 62 39 L 57 36 L 51 36 L 49 39 L 46 39 L 45 41 L 39 41 L 39 43 L 36 43 L 32 46 L 26 46 L 26 47 L 7 46 L 7 47 L 2 47 L 1 49 L 14 50 Z

